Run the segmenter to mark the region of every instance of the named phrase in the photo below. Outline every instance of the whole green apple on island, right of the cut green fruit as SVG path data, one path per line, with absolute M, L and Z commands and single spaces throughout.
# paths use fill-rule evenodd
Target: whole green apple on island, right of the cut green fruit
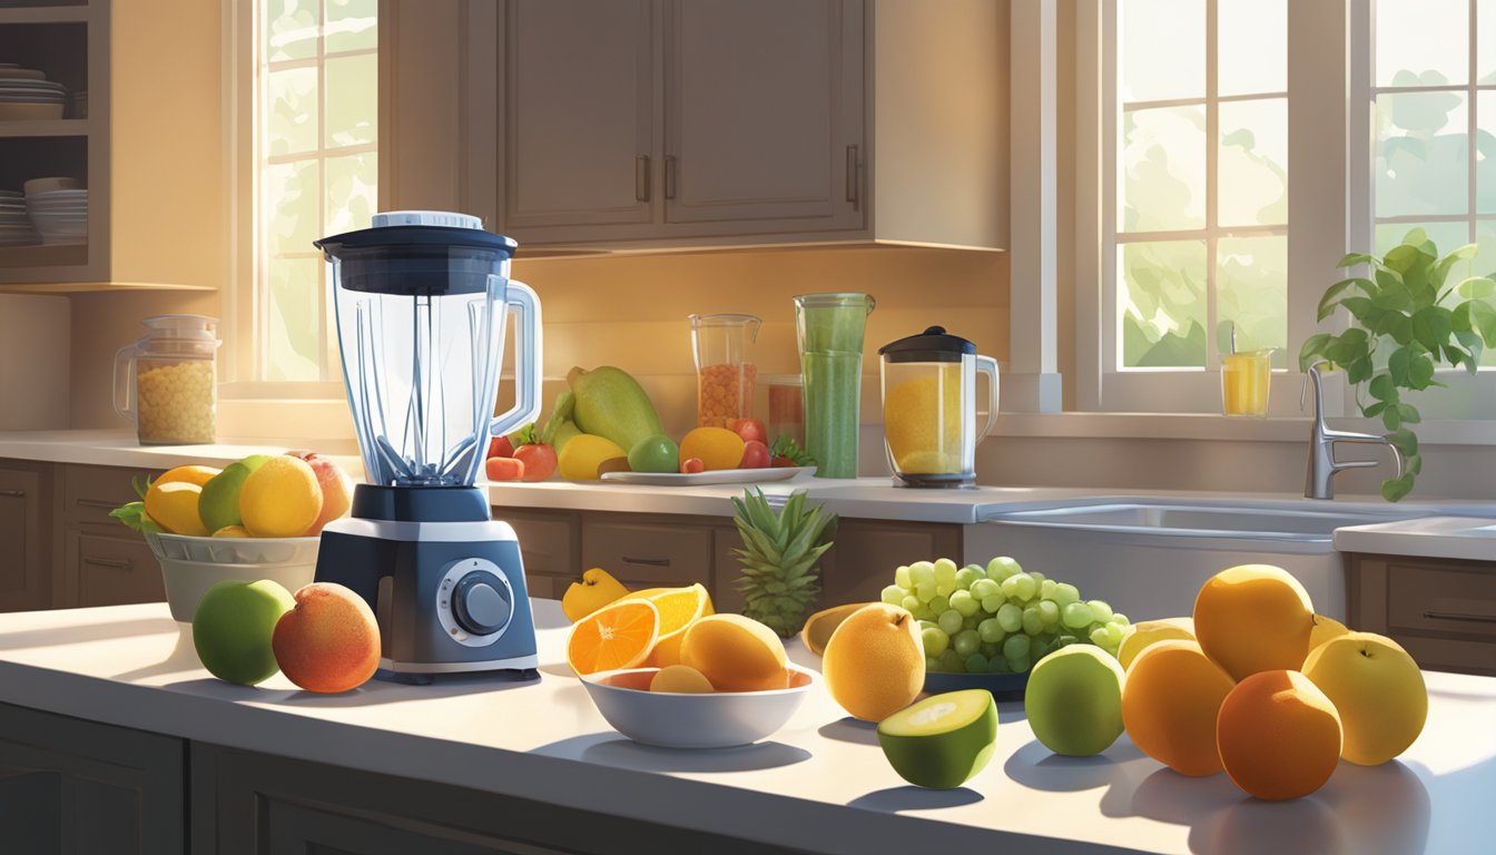
M 1038 660 L 1023 713 L 1044 747 L 1091 756 L 1122 735 L 1122 665 L 1094 644 L 1071 644 Z

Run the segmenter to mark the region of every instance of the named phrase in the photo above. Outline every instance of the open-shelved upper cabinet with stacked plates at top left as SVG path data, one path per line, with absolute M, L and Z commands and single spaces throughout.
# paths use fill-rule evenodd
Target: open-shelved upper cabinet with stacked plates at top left
M 0 3 L 0 290 L 217 287 L 217 3 Z

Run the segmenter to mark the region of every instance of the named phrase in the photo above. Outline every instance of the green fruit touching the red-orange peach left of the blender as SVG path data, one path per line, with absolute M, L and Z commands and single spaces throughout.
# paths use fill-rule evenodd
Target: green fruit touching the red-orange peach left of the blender
M 280 666 L 271 638 L 281 615 L 296 608 L 280 582 L 221 581 L 202 594 L 191 618 L 197 659 L 218 680 L 254 686 Z

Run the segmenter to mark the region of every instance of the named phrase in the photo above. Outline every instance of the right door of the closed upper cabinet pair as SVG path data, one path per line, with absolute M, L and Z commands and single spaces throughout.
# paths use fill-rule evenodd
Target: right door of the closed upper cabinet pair
M 862 228 L 862 3 L 666 9 L 666 222 Z

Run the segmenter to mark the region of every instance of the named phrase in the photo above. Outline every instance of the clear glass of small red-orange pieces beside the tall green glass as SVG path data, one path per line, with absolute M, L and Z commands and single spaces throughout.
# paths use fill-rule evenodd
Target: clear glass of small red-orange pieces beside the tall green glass
M 730 428 L 752 418 L 758 367 L 748 356 L 763 320 L 757 314 L 691 314 L 696 350 L 696 425 Z

